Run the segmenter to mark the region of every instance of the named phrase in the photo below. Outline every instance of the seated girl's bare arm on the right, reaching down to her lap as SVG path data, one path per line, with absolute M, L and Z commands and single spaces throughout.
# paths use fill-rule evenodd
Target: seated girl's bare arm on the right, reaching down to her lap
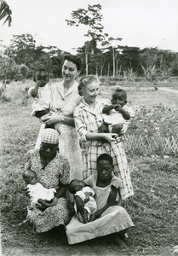
M 100 215 L 106 211 L 107 208 L 112 207 L 116 204 L 116 198 L 118 195 L 118 189 L 112 185 L 112 191 L 110 192 L 110 195 L 108 196 L 107 203 L 105 207 L 102 207 L 99 211 L 94 212 L 89 221 L 94 221 L 96 218 L 99 218 Z

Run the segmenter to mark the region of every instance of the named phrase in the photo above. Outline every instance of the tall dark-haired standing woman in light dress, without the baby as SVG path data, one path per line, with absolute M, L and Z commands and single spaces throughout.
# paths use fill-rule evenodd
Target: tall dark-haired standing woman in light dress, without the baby
M 55 125 L 55 130 L 60 132 L 60 154 L 70 163 L 70 180 L 83 178 L 82 154 L 73 119 L 73 110 L 81 101 L 76 81 L 81 71 L 81 64 L 76 56 L 66 55 L 62 66 L 63 81 L 49 86 L 51 112 L 41 118 L 44 124 Z M 38 139 L 36 148 L 39 144 Z

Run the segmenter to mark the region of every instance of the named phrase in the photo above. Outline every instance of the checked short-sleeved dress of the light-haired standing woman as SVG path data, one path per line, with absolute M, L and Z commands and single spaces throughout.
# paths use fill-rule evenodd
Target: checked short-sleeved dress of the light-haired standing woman
M 122 180 L 120 188 L 121 198 L 124 200 L 134 195 L 132 182 L 129 173 L 129 165 L 123 148 L 122 140 L 118 142 L 103 143 L 101 140 L 86 140 L 88 132 L 98 132 L 103 123 L 102 109 L 106 100 L 97 98 L 95 107 L 91 108 L 84 100 L 74 110 L 74 119 L 78 137 L 83 149 L 83 177 L 89 177 L 97 172 L 96 160 L 100 154 L 110 154 L 113 159 L 114 174 Z

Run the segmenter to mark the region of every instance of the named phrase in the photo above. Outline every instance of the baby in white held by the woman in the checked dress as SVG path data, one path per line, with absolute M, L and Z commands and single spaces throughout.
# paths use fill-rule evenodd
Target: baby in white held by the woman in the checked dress
M 112 104 L 103 108 L 104 124 L 100 125 L 99 132 L 112 132 L 121 135 L 129 125 L 129 119 L 135 116 L 133 108 L 126 105 L 127 94 L 122 89 L 112 93 Z

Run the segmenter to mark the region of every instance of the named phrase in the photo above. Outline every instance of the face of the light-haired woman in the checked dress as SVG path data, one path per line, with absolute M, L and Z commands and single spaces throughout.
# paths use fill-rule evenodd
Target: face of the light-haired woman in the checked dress
M 85 102 L 87 102 L 89 105 L 92 105 L 95 103 L 96 97 L 99 93 L 99 83 L 93 82 L 91 84 L 86 85 L 83 88 L 83 96 Z

